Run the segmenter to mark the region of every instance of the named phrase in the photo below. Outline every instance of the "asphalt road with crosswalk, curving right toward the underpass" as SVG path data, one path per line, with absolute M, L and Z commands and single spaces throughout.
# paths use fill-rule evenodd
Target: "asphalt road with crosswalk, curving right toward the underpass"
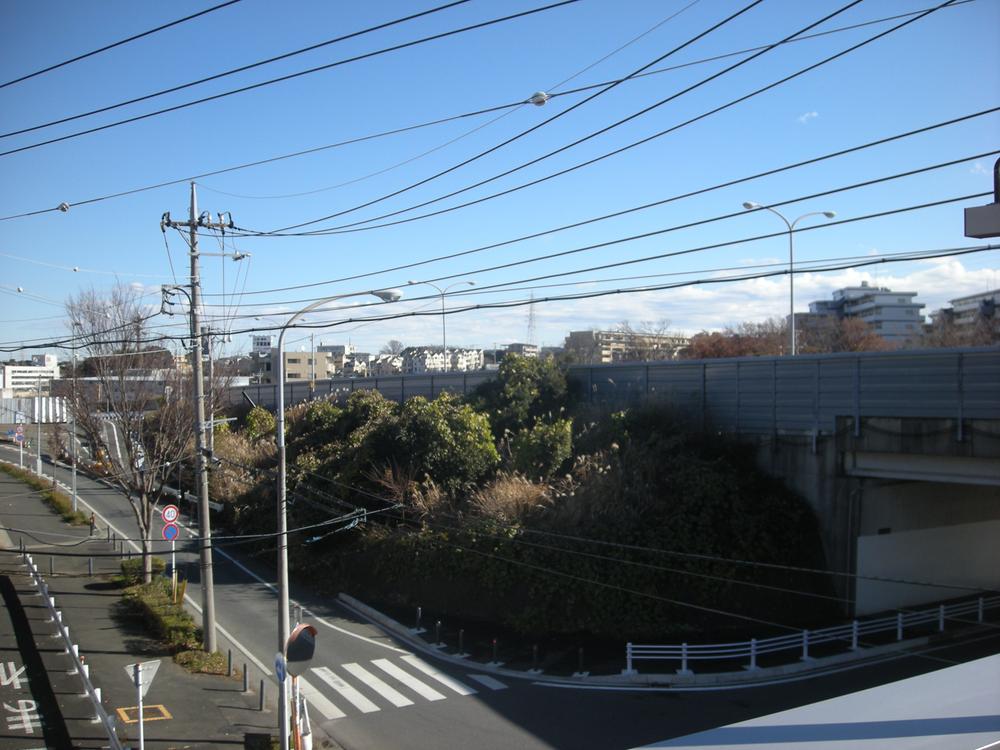
M 3 446 L 3 451 L 16 461 L 16 449 Z M 46 471 L 53 470 L 60 481 L 69 483 L 68 471 L 46 466 Z M 119 493 L 82 476 L 78 486 L 81 501 L 119 536 L 136 536 L 132 513 Z M 189 531 L 185 529 L 183 536 L 189 539 Z M 189 547 L 178 544 L 178 567 L 188 574 L 188 595 L 197 604 L 197 556 Z M 239 550 L 239 546 L 215 549 L 220 641 L 251 655 L 234 651 L 234 661 L 250 661 L 273 679 L 274 572 L 239 559 Z M 154 551 L 169 558 L 166 542 L 157 542 Z M 319 630 L 316 656 L 303 676 L 313 729 L 344 750 L 632 748 L 1000 652 L 1000 634 L 994 633 L 961 646 L 766 687 L 682 691 L 556 685 L 530 676 L 498 677 L 482 664 L 470 661 L 463 668 L 433 654 L 415 653 L 337 602 L 316 599 L 294 581 L 291 589 L 293 602 L 305 608 L 303 619 Z

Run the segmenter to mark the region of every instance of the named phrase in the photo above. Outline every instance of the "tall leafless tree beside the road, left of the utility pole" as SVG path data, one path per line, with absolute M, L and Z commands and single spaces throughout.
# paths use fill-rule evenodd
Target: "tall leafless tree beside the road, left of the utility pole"
M 94 454 L 107 456 L 108 479 L 128 498 L 148 583 L 153 512 L 171 466 L 190 451 L 193 439 L 191 377 L 173 367 L 149 368 L 153 313 L 135 289 L 119 284 L 106 296 L 81 292 L 66 310 L 94 373 L 77 384 L 71 408 Z

